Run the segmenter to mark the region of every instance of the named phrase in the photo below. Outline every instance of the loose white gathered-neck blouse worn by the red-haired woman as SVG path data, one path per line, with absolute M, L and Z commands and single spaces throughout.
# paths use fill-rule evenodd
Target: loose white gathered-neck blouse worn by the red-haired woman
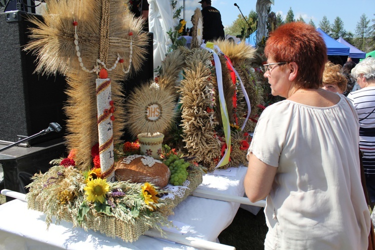
M 367 249 L 359 126 L 340 98 L 326 108 L 280 101 L 257 122 L 249 152 L 277 167 L 264 209 L 265 249 Z

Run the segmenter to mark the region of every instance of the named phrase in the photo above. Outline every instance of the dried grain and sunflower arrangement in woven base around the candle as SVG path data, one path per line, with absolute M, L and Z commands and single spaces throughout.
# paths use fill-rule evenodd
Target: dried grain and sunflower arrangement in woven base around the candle
M 46 223 L 70 221 L 73 226 L 100 231 L 109 237 L 134 241 L 150 227 L 162 232 L 171 226 L 167 216 L 202 181 L 200 167 L 190 166 L 183 196 L 163 199 L 170 192 L 151 183 L 107 182 L 100 169 L 82 172 L 56 159 L 45 174 L 35 174 L 27 186 L 28 208 L 46 214 Z

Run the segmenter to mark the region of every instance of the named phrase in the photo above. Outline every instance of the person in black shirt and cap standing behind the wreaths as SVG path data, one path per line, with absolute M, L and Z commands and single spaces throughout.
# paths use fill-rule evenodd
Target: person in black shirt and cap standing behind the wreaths
M 204 41 L 224 39 L 224 26 L 221 23 L 220 12 L 211 6 L 211 0 L 201 0 L 198 3 L 202 7 Z

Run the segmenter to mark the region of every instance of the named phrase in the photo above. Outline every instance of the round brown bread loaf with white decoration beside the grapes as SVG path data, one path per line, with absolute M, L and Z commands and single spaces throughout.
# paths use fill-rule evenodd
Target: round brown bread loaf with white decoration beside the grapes
M 170 170 L 150 156 L 130 155 L 117 162 L 114 175 L 119 181 L 149 182 L 162 188 L 168 184 Z

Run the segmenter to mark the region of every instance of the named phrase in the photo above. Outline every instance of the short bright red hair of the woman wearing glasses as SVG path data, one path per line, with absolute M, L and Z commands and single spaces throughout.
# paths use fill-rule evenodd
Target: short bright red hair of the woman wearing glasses
M 278 27 L 270 33 L 264 55 L 275 62 L 295 62 L 298 87 L 316 89 L 321 86 L 327 48 L 311 25 L 295 22 Z

